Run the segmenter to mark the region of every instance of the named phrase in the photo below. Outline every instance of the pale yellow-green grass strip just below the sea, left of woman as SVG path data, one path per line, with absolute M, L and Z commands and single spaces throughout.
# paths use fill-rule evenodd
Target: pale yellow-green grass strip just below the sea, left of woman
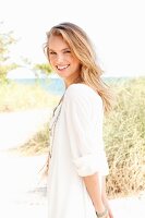
M 37 83 L 24 85 L 19 83 L 0 84 L 0 112 L 53 107 L 56 98 Z

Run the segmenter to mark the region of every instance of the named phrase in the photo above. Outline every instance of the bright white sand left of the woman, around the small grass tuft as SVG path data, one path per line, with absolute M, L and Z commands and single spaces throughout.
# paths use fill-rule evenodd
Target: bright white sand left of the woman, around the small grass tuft
M 45 157 L 16 157 L 3 149 L 25 144 L 49 121 L 50 109 L 0 113 L 0 217 L 47 217 Z

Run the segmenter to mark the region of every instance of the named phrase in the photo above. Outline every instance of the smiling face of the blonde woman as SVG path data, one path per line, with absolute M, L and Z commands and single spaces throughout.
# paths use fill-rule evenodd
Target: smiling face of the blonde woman
M 67 84 L 70 84 L 80 75 L 80 60 L 72 55 L 69 45 L 62 36 L 51 35 L 48 44 L 51 66 Z

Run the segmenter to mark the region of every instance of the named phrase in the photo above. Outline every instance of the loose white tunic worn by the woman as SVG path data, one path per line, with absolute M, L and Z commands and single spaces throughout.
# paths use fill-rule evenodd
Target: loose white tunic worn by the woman
M 48 173 L 48 218 L 96 218 L 82 177 L 108 174 L 102 142 L 102 101 L 85 84 L 68 87 L 57 113 Z

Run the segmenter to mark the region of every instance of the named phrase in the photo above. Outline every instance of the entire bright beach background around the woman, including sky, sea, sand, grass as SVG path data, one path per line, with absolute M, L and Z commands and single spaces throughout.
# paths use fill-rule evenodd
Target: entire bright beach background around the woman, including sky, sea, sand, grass
M 114 215 L 138 217 L 141 211 L 144 217 L 144 1 L 1 0 L 0 3 L 2 217 L 47 217 L 47 181 L 40 169 L 49 149 L 50 114 L 64 84 L 52 72 L 43 46 L 46 32 L 65 21 L 86 31 L 105 72 L 102 80 L 117 96 L 104 125 L 110 167 L 107 192 Z

